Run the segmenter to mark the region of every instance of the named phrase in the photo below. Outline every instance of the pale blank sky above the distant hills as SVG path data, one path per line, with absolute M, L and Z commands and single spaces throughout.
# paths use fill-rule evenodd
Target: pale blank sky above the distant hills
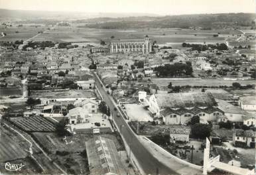
M 0 0 L 0 9 L 183 15 L 255 13 L 256 0 Z

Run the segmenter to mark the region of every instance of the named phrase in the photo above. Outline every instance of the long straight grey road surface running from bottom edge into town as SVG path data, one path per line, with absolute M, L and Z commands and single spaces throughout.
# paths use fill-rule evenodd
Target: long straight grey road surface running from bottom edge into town
M 103 97 L 103 100 L 106 102 L 107 106 L 109 106 L 109 109 L 111 110 L 113 120 L 117 124 L 119 131 L 121 129 L 123 139 L 125 139 L 126 143 L 129 143 L 129 145 L 131 145 L 131 151 L 135 158 L 137 159 L 137 161 L 139 162 L 139 166 L 143 169 L 144 173 L 161 175 L 178 174 L 174 170 L 159 162 L 157 158 L 153 157 L 153 155 L 149 153 L 149 151 L 141 144 L 135 133 L 128 126 L 127 122 L 125 122 L 123 114 L 120 114 L 120 117 L 117 117 L 117 113 L 119 112 L 118 110 L 115 110 L 115 108 L 117 108 L 115 106 L 115 103 L 113 102 L 113 100 L 111 100 L 111 97 L 103 88 L 101 81 L 97 77 L 96 73 L 93 73 L 93 75 L 96 80 L 96 86 L 101 96 Z

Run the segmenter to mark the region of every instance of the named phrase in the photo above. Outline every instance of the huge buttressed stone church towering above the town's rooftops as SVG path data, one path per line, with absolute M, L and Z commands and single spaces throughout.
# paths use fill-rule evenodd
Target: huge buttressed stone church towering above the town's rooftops
M 152 42 L 149 37 L 145 40 L 116 40 L 110 43 L 111 53 L 125 53 L 125 52 L 152 52 Z

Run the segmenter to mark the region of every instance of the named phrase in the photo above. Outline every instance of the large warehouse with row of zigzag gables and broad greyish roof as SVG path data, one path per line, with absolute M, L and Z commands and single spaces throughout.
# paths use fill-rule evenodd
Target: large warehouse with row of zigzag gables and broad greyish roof
M 188 123 L 193 116 L 199 116 L 201 123 L 208 123 L 224 115 L 210 93 L 153 94 L 146 99 L 149 110 L 162 117 L 166 125 Z

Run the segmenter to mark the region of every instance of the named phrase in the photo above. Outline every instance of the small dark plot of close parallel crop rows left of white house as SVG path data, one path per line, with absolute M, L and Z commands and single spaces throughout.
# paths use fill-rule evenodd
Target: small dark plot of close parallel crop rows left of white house
M 44 117 L 30 117 L 30 118 L 12 118 L 11 119 L 15 125 L 23 129 L 24 131 L 48 131 L 52 132 L 55 130 L 54 124 L 48 121 Z

